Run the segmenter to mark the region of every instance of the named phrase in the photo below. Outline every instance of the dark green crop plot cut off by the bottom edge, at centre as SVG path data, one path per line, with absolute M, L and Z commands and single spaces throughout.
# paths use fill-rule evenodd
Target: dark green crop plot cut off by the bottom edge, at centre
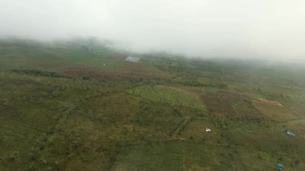
M 113 170 L 225 170 L 227 158 L 216 152 L 224 146 L 198 141 L 173 140 L 159 144 L 133 145 L 124 149 Z

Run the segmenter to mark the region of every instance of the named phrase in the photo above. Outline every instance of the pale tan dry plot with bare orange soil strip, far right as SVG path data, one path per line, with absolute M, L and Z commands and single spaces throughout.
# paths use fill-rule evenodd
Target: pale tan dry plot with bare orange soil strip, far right
M 292 120 L 297 119 L 298 117 L 293 114 L 288 108 L 279 103 L 278 101 L 260 99 L 252 99 L 252 104 L 267 117 L 277 120 Z

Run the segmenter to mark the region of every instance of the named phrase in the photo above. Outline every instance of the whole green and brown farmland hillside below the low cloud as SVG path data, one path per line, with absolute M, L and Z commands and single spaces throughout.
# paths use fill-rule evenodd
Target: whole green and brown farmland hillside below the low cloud
M 305 169 L 304 68 L 128 55 L 2 39 L 0 170 Z

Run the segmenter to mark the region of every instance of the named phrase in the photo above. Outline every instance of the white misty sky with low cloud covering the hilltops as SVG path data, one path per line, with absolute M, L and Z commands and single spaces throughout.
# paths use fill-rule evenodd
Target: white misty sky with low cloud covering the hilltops
M 305 0 L 0 0 L 0 35 L 98 36 L 135 51 L 305 59 Z

